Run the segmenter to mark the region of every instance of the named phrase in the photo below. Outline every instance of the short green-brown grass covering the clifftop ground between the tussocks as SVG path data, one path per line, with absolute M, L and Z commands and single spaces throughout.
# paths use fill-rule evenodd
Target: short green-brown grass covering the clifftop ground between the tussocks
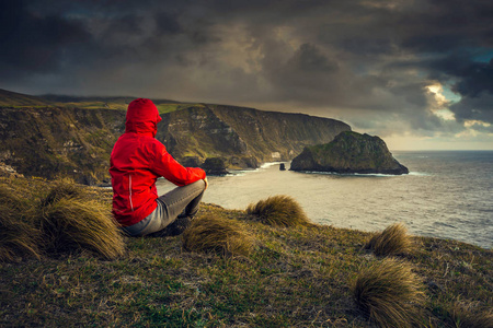
M 21 197 L 41 199 L 39 179 L 0 178 Z M 110 207 L 111 191 L 84 188 Z M 85 197 L 85 196 L 84 196 Z M 0 326 L 372 327 L 352 284 L 381 260 L 363 251 L 371 236 L 354 230 L 276 227 L 245 211 L 204 204 L 198 218 L 244 227 L 246 255 L 186 251 L 181 236 L 125 237 L 126 254 L 90 251 L 0 263 Z M 425 293 L 420 325 L 462 327 L 493 306 L 493 251 L 415 237 L 405 261 Z M 460 309 L 458 309 L 460 301 Z M 484 321 L 483 321 L 484 323 Z

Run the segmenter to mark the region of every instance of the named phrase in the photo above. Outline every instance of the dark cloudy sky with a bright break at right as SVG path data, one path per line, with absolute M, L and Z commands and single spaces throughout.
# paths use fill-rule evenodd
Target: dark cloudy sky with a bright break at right
M 306 113 L 493 150 L 491 0 L 0 0 L 0 89 Z

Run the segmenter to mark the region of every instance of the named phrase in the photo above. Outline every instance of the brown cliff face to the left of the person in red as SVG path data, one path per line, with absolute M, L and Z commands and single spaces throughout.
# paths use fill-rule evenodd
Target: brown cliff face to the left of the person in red
M 0 108 L 0 166 L 26 176 L 108 180 L 110 154 L 124 130 L 125 112 Z

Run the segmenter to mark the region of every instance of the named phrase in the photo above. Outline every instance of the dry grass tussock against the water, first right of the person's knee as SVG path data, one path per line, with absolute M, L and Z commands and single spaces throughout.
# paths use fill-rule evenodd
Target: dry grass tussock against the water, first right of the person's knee
M 301 206 L 289 196 L 278 195 L 249 204 L 246 213 L 254 215 L 264 224 L 274 226 L 310 225 Z

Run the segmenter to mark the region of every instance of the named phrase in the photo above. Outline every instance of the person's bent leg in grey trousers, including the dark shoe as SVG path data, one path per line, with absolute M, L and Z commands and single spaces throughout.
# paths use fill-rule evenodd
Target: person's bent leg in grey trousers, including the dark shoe
M 204 195 L 204 180 L 177 187 L 157 199 L 158 207 L 145 220 L 148 224 L 138 235 L 176 235 L 188 225 L 191 218 L 198 211 Z M 142 220 L 144 221 L 144 220 Z M 163 230 L 167 231 L 163 231 Z

